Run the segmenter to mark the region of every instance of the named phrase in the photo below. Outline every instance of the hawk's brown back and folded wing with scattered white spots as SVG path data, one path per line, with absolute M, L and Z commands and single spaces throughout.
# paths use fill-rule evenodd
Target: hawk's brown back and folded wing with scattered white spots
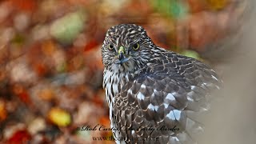
M 124 83 L 115 96 L 115 126 L 123 127 L 116 135 L 132 143 L 154 143 L 156 139 L 160 143 L 194 143 L 190 134 L 202 126 L 192 117 L 208 109 L 210 90 L 218 88 L 221 81 L 202 62 L 159 50 L 158 58 Z

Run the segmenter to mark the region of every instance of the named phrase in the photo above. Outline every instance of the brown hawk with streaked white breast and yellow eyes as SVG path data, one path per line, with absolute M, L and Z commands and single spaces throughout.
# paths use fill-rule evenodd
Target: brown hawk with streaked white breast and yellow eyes
M 116 143 L 192 144 L 222 81 L 206 64 L 154 45 L 142 26 L 107 30 L 102 45 L 103 88 Z

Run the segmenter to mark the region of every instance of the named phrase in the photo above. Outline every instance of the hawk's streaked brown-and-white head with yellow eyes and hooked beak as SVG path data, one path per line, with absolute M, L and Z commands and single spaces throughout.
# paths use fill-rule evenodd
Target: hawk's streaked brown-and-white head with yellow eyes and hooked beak
M 107 69 L 138 70 L 150 60 L 153 46 L 142 26 L 112 26 L 102 45 L 102 62 Z

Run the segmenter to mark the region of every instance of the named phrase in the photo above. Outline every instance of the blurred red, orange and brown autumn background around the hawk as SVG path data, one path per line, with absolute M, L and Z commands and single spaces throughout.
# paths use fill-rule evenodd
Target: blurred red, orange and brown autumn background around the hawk
M 106 30 L 143 26 L 156 45 L 223 78 L 198 143 L 256 142 L 254 0 L 0 1 L 0 143 L 114 143 L 102 90 Z

